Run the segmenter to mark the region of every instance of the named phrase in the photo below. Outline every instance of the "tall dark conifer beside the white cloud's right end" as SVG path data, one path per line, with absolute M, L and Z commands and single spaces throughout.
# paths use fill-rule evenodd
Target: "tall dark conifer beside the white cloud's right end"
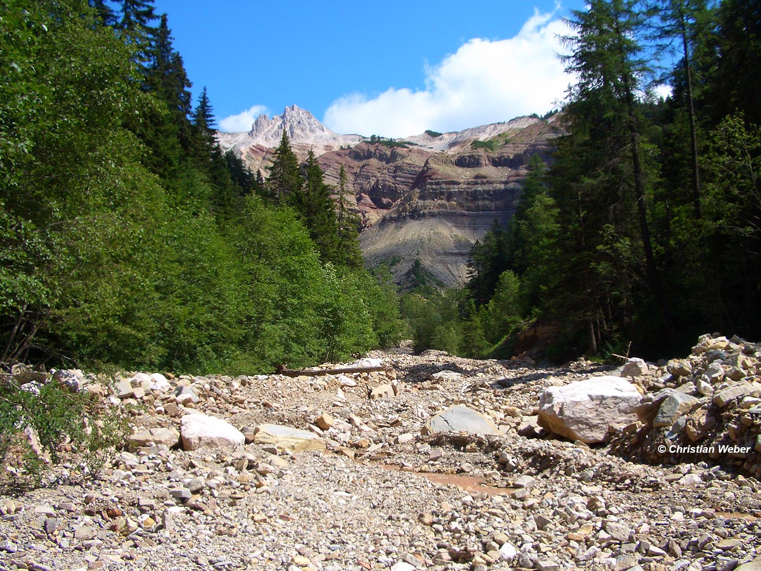
M 577 75 L 578 82 L 570 89 L 571 103 L 566 111 L 575 136 L 581 136 L 577 151 L 584 153 L 578 157 L 575 167 L 588 161 L 580 173 L 583 178 L 572 187 L 579 192 L 584 187 L 591 190 L 589 204 L 596 209 L 604 203 L 612 206 L 609 221 L 598 219 L 591 227 L 588 222 L 592 220 L 584 220 L 585 209 L 578 210 L 577 228 L 586 225 L 587 235 L 591 232 L 592 238 L 590 243 L 581 241 L 579 245 L 594 259 L 605 252 L 613 255 L 621 247 L 628 248 L 630 238 L 637 238 L 642 244 L 648 288 L 659 308 L 665 330 L 672 333 L 670 310 L 655 263 L 648 223 L 648 174 L 642 158 L 642 117 L 635 100 L 635 92 L 642 88 L 640 82 L 648 73 L 642 46 L 638 43 L 643 14 L 637 11 L 634 0 L 593 0 L 587 11 L 573 11 L 572 14 L 568 24 L 577 35 L 565 38 L 572 54 L 564 61 L 566 71 Z M 638 236 L 632 234 L 633 228 L 628 225 L 631 193 L 637 212 Z M 607 198 L 603 194 L 607 194 Z M 600 278 L 609 279 L 607 263 L 598 268 Z M 621 274 L 626 276 L 626 271 Z M 629 288 L 628 284 L 622 286 L 624 291 Z M 595 327 L 601 310 L 594 301 L 599 291 L 591 289 L 592 296 L 585 312 L 593 350 L 597 349 L 595 340 L 599 338 Z

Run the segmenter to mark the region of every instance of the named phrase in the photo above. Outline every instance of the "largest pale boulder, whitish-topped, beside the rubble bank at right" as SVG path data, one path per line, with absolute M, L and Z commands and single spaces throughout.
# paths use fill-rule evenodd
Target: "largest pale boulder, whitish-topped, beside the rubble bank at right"
M 641 398 L 625 378 L 591 377 L 546 389 L 539 400 L 537 422 L 554 434 L 595 444 L 603 442 L 611 424 L 634 423 Z

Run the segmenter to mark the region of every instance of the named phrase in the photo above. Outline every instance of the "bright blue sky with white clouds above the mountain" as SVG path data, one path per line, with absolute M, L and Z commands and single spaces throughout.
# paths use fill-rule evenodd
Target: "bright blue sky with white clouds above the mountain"
M 559 18 L 583 2 L 155 0 L 224 130 L 297 104 L 338 132 L 407 136 L 544 113 L 570 78 Z

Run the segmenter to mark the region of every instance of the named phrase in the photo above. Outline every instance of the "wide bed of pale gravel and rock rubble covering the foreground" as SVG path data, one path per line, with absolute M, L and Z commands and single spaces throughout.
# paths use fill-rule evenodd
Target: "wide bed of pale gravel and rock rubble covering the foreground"
M 618 370 L 399 349 L 368 356 L 385 372 L 72 373 L 129 410 L 129 449 L 94 479 L 72 455 L 0 496 L 0 569 L 758 569 L 756 452 L 649 456 L 700 418 L 705 442 L 757 433 L 757 351 L 702 337 L 683 361 Z M 591 445 L 540 426 L 546 391 L 606 375 L 639 388 L 637 420 L 600 414 Z M 674 394 L 695 401 L 676 397 L 667 426 Z

